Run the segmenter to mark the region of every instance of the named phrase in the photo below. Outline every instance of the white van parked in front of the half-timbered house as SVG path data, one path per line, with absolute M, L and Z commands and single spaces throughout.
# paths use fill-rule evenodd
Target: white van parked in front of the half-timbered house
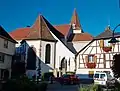
M 117 79 L 112 77 L 109 73 L 105 72 L 96 72 L 94 74 L 94 83 L 103 85 L 103 86 L 115 86 L 118 83 Z

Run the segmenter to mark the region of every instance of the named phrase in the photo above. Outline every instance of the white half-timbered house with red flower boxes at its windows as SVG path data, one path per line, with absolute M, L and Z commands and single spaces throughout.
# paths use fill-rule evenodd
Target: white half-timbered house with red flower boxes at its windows
M 76 55 L 76 73 L 94 74 L 95 71 L 109 71 L 112 74 L 111 66 L 113 55 L 120 53 L 120 43 L 110 44 L 112 30 L 108 26 L 104 32 L 96 36 L 88 45 L 81 49 Z M 116 39 L 120 35 L 115 33 Z

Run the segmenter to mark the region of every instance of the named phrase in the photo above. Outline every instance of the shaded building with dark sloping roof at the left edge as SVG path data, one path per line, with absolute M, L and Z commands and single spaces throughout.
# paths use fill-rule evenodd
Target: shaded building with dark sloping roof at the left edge
M 0 79 L 11 77 L 11 65 L 16 43 L 0 26 Z

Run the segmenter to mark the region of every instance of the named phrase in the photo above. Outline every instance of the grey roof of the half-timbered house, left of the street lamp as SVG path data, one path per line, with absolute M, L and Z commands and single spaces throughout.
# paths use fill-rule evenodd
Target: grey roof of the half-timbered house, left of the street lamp
M 94 39 L 104 39 L 104 38 L 108 38 L 108 37 L 112 37 L 112 30 L 110 29 L 110 26 L 107 26 L 105 31 L 100 33 Z

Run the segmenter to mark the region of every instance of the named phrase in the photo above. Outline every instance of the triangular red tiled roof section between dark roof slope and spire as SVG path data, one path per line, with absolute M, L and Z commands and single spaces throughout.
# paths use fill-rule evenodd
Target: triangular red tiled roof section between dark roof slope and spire
M 71 26 L 69 24 L 64 24 L 64 25 L 57 25 L 54 27 L 65 36 L 68 34 Z

